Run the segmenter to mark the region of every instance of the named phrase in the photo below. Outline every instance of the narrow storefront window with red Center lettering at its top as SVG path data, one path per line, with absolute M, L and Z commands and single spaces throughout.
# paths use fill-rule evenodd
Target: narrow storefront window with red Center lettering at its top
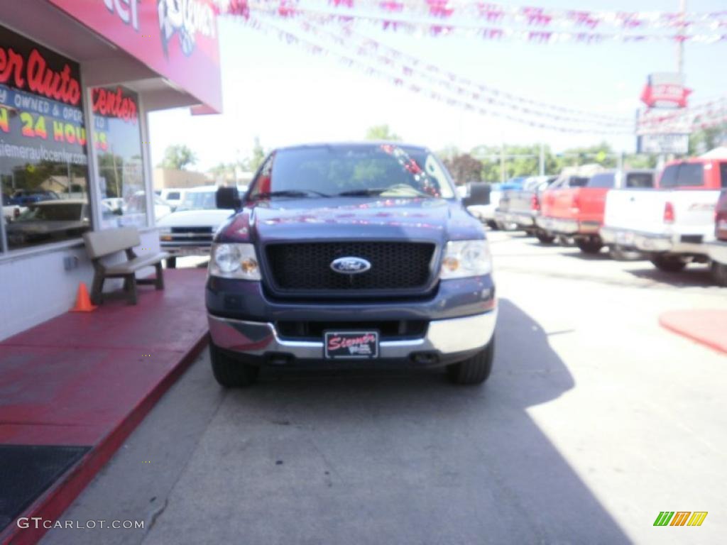
M 137 94 L 122 86 L 96 87 L 91 97 L 101 227 L 146 227 Z

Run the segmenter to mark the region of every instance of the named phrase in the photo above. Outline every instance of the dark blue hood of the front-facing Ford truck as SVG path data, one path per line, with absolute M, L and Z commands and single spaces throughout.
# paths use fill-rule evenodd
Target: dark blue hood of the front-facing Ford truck
M 459 201 L 422 198 L 281 199 L 244 209 L 220 231 L 220 241 L 368 238 L 448 240 L 484 238 L 483 227 Z

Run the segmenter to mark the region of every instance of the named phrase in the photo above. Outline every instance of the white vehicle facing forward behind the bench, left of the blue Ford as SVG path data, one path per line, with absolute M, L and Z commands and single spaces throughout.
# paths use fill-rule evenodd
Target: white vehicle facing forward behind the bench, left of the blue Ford
M 177 209 L 156 222 L 161 249 L 172 256 L 166 260 L 167 267 L 176 267 L 177 257 L 209 255 L 212 236 L 233 213 L 233 209 L 217 209 L 215 195 L 215 185 L 185 190 Z

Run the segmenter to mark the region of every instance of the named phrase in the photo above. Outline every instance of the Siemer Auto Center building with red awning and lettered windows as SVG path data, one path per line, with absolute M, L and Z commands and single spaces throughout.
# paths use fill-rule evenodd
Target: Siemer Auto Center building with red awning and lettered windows
M 158 249 L 148 113 L 220 113 L 211 0 L 23 0 L 0 12 L 0 339 L 73 306 L 86 230 Z

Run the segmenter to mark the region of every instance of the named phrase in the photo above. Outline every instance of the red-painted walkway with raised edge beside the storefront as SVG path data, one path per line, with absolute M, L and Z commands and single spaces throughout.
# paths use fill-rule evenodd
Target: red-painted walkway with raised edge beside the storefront
M 23 516 L 56 520 L 206 343 L 204 269 L 165 270 L 139 304 L 68 312 L 0 342 L 0 445 L 89 451 Z M 42 530 L 0 530 L 35 543 Z

